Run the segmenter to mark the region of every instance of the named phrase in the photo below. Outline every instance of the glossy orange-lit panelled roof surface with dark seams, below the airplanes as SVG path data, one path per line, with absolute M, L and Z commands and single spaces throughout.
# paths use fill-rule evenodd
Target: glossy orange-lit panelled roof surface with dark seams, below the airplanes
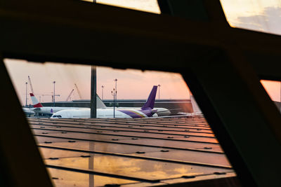
M 204 118 L 28 120 L 55 186 L 239 186 Z

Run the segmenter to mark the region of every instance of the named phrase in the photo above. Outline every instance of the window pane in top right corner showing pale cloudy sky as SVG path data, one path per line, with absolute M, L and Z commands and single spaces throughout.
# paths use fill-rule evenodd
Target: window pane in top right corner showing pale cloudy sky
M 280 0 L 221 0 L 232 27 L 281 34 Z

